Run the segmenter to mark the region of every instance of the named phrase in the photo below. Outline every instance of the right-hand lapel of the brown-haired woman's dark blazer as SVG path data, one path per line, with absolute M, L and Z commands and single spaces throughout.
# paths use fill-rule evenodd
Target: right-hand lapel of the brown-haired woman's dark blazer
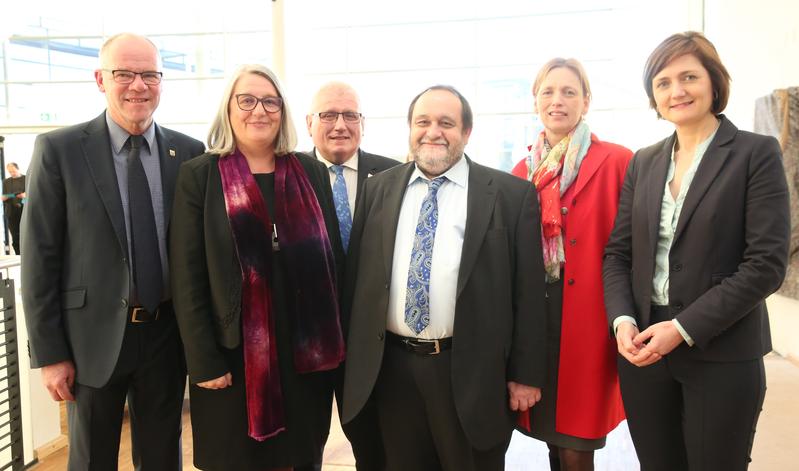
M 710 188 L 716 175 L 721 171 L 724 162 L 727 161 L 727 157 L 730 155 L 730 150 L 721 146 L 731 141 L 737 131 L 738 129 L 735 125 L 727 121 L 726 118 L 722 118 L 716 137 L 713 138 L 713 142 L 710 143 L 707 151 L 705 151 L 702 162 L 699 163 L 699 168 L 696 170 L 693 181 L 691 181 L 691 186 L 688 188 L 688 193 L 685 195 L 685 201 L 683 201 L 682 210 L 680 211 L 680 219 L 677 220 L 677 229 L 674 231 L 672 246 L 679 240 L 685 225 L 688 224 L 702 197 L 705 196 L 708 188 Z

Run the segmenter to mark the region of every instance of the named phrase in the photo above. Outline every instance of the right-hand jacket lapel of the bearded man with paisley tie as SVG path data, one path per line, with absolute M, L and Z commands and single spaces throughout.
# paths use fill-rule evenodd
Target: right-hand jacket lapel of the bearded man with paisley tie
M 464 157 L 469 163 L 469 189 L 466 196 L 466 227 L 461 251 L 461 266 L 458 271 L 458 290 L 460 296 L 466 281 L 477 262 L 480 246 L 488 230 L 488 223 L 494 213 L 497 190 L 491 176 L 483 171 L 481 165 Z

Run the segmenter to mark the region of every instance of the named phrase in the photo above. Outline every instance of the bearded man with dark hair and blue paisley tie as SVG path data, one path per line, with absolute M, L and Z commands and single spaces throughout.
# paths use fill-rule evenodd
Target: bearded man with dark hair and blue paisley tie
M 388 470 L 501 470 L 541 397 L 544 278 L 532 185 L 464 154 L 473 116 L 436 85 L 412 161 L 369 179 L 352 226 L 346 424 L 374 402 Z

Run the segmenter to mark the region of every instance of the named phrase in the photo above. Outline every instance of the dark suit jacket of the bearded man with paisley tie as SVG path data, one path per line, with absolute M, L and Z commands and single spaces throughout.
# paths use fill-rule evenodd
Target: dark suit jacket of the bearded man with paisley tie
M 394 239 L 413 169 L 409 163 L 368 179 L 356 209 L 343 302 L 352 316 L 344 422 L 363 408 L 380 373 Z M 544 268 L 532 185 L 469 161 L 465 204 L 451 380 L 467 437 L 487 449 L 513 428 L 507 381 L 544 384 Z

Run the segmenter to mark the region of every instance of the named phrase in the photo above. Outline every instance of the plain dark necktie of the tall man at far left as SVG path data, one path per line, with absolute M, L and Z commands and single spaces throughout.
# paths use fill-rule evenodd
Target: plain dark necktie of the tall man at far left
M 155 312 L 161 302 L 163 276 L 161 255 L 158 250 L 158 233 L 150 196 L 147 174 L 141 163 L 142 136 L 128 139 L 128 209 L 130 212 L 130 237 L 133 261 L 135 301 L 149 312 Z

